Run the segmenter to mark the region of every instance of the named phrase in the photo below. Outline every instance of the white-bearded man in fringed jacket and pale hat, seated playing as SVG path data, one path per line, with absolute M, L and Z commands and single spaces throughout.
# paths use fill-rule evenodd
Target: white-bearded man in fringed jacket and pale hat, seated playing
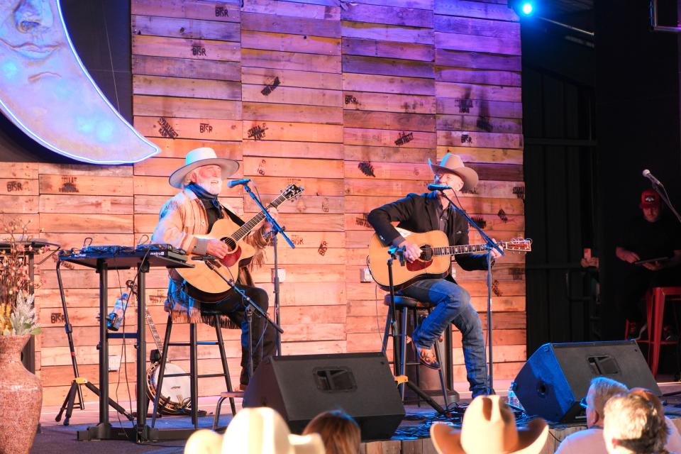
M 228 253 L 225 243 L 216 239 L 196 238 L 196 235 L 209 233 L 213 224 L 226 216 L 237 225 L 243 224 L 230 206 L 218 201 L 223 181 L 233 175 L 238 168 L 238 162 L 217 157 L 212 148 L 196 148 L 187 153 L 185 165 L 175 170 L 169 179 L 172 187 L 182 191 L 175 194 L 161 209 L 152 236 L 153 242 L 170 244 L 189 253 L 225 257 Z M 277 216 L 275 209 L 270 210 L 270 214 Z M 258 250 L 250 266 L 262 264 L 262 249 L 267 246 L 265 233 L 269 230 L 269 223 L 263 222 L 255 226 L 245 237 L 245 241 Z M 237 282 L 255 304 L 267 311 L 267 292 L 253 286 L 253 279 L 246 268 L 240 268 Z M 274 328 L 260 316 L 254 315 L 253 332 L 248 333 L 242 297 L 233 290 L 212 297 L 210 301 L 216 302 L 208 303 L 196 294 L 190 295 L 192 292 L 189 291 L 189 287 L 177 272 L 170 272 L 168 297 L 165 301 L 166 311 L 170 311 L 173 320 L 177 321 L 194 323 L 204 321 L 212 324 L 214 315 L 218 314 L 222 326 L 227 326 L 229 321 L 240 326 L 242 333 L 240 387 L 245 389 L 248 384 L 248 336 L 252 336 L 254 345 L 253 367 L 258 367 L 262 358 L 272 355 L 275 351 Z

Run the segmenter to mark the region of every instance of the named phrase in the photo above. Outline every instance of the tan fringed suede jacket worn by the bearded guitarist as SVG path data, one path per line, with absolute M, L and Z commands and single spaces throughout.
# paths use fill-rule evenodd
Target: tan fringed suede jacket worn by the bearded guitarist
M 223 206 L 224 214 L 238 225 L 243 220 L 234 214 L 230 206 Z M 264 228 L 264 227 L 263 227 Z M 205 254 L 208 240 L 196 238 L 195 235 L 205 235 L 209 232 L 208 216 L 201 200 L 191 189 L 184 189 L 168 200 L 159 214 L 159 221 L 152 236 L 153 243 L 170 244 L 175 248 L 184 249 L 187 253 Z M 268 241 L 262 236 L 262 229 L 253 231 L 244 238 L 246 243 L 253 245 L 258 252 L 250 265 L 239 269 L 238 283 L 253 285 L 250 270 L 260 267 L 265 261 L 265 246 Z M 209 323 L 213 325 L 213 316 L 201 317 L 201 301 L 189 297 L 182 292 L 184 280 L 175 270 L 169 270 L 170 282 L 168 297 L 165 301 L 165 311 L 170 312 L 173 321 L 184 323 Z M 230 326 L 226 316 L 221 316 L 220 324 Z

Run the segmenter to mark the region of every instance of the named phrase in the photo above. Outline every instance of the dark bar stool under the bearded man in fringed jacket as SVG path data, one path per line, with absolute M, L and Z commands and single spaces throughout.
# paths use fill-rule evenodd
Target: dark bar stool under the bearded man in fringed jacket
M 190 402 L 192 406 L 192 423 L 194 428 L 199 428 L 199 378 L 208 377 L 225 377 L 225 384 L 227 385 L 227 391 L 233 392 L 232 380 L 229 377 L 229 367 L 227 365 L 227 355 L 225 353 L 225 343 L 222 338 L 222 331 L 220 328 L 220 316 L 218 314 L 214 315 L 215 323 L 215 333 L 217 336 L 217 341 L 197 341 L 196 336 L 196 323 L 189 323 L 189 342 L 170 342 L 170 332 L 172 331 L 172 316 L 168 315 L 168 323 L 165 328 L 165 338 L 163 341 L 163 352 L 161 355 L 161 364 L 158 371 L 158 380 L 156 389 L 160 390 L 163 386 L 164 377 L 189 377 L 190 382 Z M 203 374 L 199 375 L 198 365 L 198 346 L 199 345 L 218 345 L 220 350 L 220 358 L 222 360 L 222 373 L 218 374 Z M 165 374 L 165 363 L 168 359 L 168 348 L 170 346 L 182 346 L 189 347 L 189 372 L 184 374 Z M 156 424 L 156 415 L 158 411 L 160 391 L 156 393 L 154 399 L 154 411 L 151 420 L 151 426 L 154 427 Z M 229 399 L 232 416 L 236 414 L 236 406 L 234 404 L 234 397 L 226 397 Z M 224 400 L 224 399 L 223 399 Z M 222 402 L 220 402 L 222 404 Z

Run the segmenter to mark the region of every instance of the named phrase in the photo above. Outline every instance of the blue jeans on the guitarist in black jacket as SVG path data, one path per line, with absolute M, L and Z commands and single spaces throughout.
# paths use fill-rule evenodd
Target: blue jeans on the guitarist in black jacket
M 470 294 L 459 284 L 445 279 L 423 279 L 400 292 L 432 304 L 433 310 L 421 326 L 414 328 L 414 343 L 430 348 L 450 323 L 461 331 L 466 377 L 473 397 L 487 391 L 485 335 L 477 311 L 470 304 Z

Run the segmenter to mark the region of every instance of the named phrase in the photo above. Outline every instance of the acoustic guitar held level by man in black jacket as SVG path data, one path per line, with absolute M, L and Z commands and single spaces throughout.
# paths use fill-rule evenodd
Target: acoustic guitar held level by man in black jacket
M 404 260 L 404 265 L 395 260 L 392 264 L 392 280 L 395 290 L 402 290 L 414 282 L 422 279 L 442 279 L 450 272 L 451 255 L 480 253 L 487 251 L 485 244 L 467 244 L 450 246 L 449 240 L 443 231 L 430 231 L 426 233 L 413 233 L 402 228 L 397 229 L 410 243 L 415 243 L 421 248 L 421 256 L 409 263 Z M 532 240 L 499 241 L 497 244 L 508 251 L 528 253 L 531 250 Z M 369 256 L 367 265 L 371 276 L 384 290 L 389 290 L 388 279 L 388 253 L 389 246 L 382 243 L 379 236 L 374 233 L 369 241 Z

